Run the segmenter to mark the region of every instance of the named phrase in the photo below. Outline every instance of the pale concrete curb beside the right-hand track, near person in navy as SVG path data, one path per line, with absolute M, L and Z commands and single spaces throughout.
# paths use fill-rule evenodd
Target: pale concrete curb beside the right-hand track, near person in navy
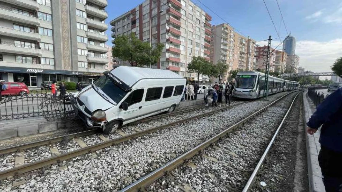
M 312 108 L 315 108 L 307 97 L 307 91 L 304 92 L 304 129 L 306 129 L 306 122 L 314 113 Z M 306 154 L 307 154 L 307 174 L 309 180 L 310 192 L 325 192 L 322 172 L 318 164 L 318 154 L 320 150 L 320 144 L 318 142 L 320 129 L 314 135 L 305 134 L 306 136 Z

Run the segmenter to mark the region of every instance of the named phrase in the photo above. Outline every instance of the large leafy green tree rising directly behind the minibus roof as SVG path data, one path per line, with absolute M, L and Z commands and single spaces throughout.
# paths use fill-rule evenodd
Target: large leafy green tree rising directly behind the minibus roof
M 157 43 L 153 48 L 149 42 L 142 42 L 134 33 L 118 35 L 114 40 L 113 57 L 128 61 L 132 66 L 142 67 L 157 63 L 164 45 Z

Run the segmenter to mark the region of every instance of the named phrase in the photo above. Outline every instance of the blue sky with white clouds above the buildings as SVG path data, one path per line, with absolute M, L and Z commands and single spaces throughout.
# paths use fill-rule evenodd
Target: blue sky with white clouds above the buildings
M 106 8 L 109 17 L 106 22 L 109 24 L 111 19 L 141 2 L 143 0 L 109 0 Z M 276 0 L 265 0 L 275 27 L 268 16 L 263 0 L 193 0 L 193 2 L 212 16 L 212 25 L 229 23 L 243 35 L 261 41 L 258 42 L 260 45 L 266 43 L 262 40 L 272 35 L 274 38 L 272 47 L 275 48 L 291 32 L 291 35 L 297 39 L 296 54 L 300 56 L 299 65 L 305 70 L 330 72 L 333 62 L 342 57 L 341 0 L 278 0 L 286 28 L 284 23 L 281 23 Z M 107 33 L 110 36 L 110 30 Z M 111 44 L 111 40 L 108 44 Z

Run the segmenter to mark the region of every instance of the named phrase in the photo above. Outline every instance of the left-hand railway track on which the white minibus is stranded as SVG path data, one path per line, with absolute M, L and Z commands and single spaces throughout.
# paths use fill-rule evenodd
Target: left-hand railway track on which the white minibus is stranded
M 91 153 L 93 151 L 96 150 L 100 150 L 109 146 L 113 146 L 113 145 L 117 145 L 119 143 L 122 142 L 126 142 L 129 141 L 130 139 L 134 139 L 137 137 L 141 137 L 144 136 L 146 134 L 149 133 L 153 133 L 171 126 L 174 126 L 176 124 L 180 124 L 189 120 L 194 120 L 194 119 L 198 119 L 200 117 L 204 117 L 207 115 L 210 115 L 212 113 L 215 112 L 219 112 L 225 109 L 228 109 L 230 107 L 234 107 L 237 105 L 240 105 L 242 103 L 246 103 L 246 102 L 236 102 L 237 104 L 235 105 L 231 105 L 231 106 L 224 106 L 224 107 L 220 107 L 220 108 L 208 108 L 208 107 L 202 107 L 202 106 L 198 106 L 198 107 L 194 107 L 194 108 L 189 108 L 189 109 L 184 109 L 184 110 L 180 110 L 174 113 L 170 113 L 170 114 L 162 114 L 162 115 L 158 115 L 158 116 L 153 116 L 153 117 L 148 117 L 145 119 L 142 119 L 138 122 L 135 123 L 131 123 L 129 126 L 123 127 L 121 130 L 118 131 L 118 135 L 114 138 L 114 139 L 110 139 L 108 137 L 105 137 L 104 135 L 101 134 L 96 134 L 96 130 L 88 130 L 88 131 L 83 131 L 83 132 L 79 132 L 79 133 L 74 133 L 74 134 L 69 134 L 69 135 L 64 135 L 64 136 L 59 136 L 59 137 L 55 137 L 55 138 L 49 138 L 49 139 L 45 139 L 43 141 L 38 141 L 38 142 L 32 142 L 32 143 L 28 143 L 28 144 L 23 144 L 23 145 L 18 145 L 18 146 L 13 146 L 13 147 L 8 147 L 8 148 L 3 148 L 0 149 L 0 154 L 9 154 L 9 153 L 16 153 L 14 154 L 15 157 L 15 161 L 21 162 L 21 163 L 16 163 L 14 164 L 13 168 L 9 168 L 6 169 L 4 171 L 0 172 L 0 180 L 6 179 L 10 176 L 15 176 L 15 175 L 20 175 L 35 169 L 39 169 L 51 164 L 55 164 L 55 163 L 60 163 L 64 160 L 68 160 L 74 157 L 78 157 L 81 156 L 83 154 L 87 154 L 87 153 Z M 192 111 L 196 111 L 197 115 L 181 115 L 180 114 L 184 114 L 184 113 L 188 113 L 188 112 L 192 112 Z M 162 118 L 169 118 L 172 116 L 176 116 L 175 118 L 173 118 L 172 122 L 168 122 L 168 123 L 161 123 L 161 125 L 157 125 L 157 126 L 153 126 L 153 125 L 149 125 L 147 126 L 147 129 L 145 130 L 137 130 L 134 125 L 139 124 L 139 123 L 146 123 L 149 121 L 153 121 L 153 120 L 157 120 L 160 121 L 160 119 Z M 156 122 L 152 122 L 152 124 L 156 125 Z M 158 123 L 157 123 L 158 124 Z M 133 126 L 133 127 L 132 127 Z M 134 131 L 134 133 L 132 133 L 132 131 Z M 126 134 L 126 133 L 131 133 L 131 134 Z M 93 144 L 93 145 L 87 145 L 86 142 L 83 142 L 80 137 L 84 137 L 84 136 L 89 136 L 89 135 L 98 135 L 98 143 L 97 144 Z M 97 137 L 97 136 L 96 136 Z M 76 150 L 64 150 L 64 152 L 61 152 L 55 145 L 53 145 L 54 143 L 57 142 L 67 142 L 70 139 L 73 139 L 73 143 L 70 143 L 70 145 L 79 145 L 79 148 L 77 148 Z M 96 142 L 95 142 L 96 143 Z M 49 145 L 50 151 L 51 151 L 51 157 L 49 158 L 43 158 L 40 159 L 38 161 L 28 161 L 28 163 L 25 163 L 25 156 L 23 154 L 23 150 L 29 150 L 31 148 L 35 148 L 35 147 L 41 147 L 44 145 Z M 35 155 L 39 155 L 36 153 L 32 153 L 31 156 L 35 156 Z M 11 154 L 11 156 L 13 156 Z M 14 159 L 14 157 L 12 157 Z

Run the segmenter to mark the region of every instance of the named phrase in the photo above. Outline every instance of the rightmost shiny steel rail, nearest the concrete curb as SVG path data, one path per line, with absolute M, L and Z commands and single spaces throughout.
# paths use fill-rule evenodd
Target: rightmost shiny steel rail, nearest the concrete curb
M 300 92 L 300 93 L 302 93 L 302 92 Z M 260 168 L 261 168 L 261 166 L 263 165 L 263 162 L 264 162 L 264 160 L 265 160 L 265 158 L 266 158 L 268 152 L 270 151 L 270 149 L 271 149 L 271 147 L 272 147 L 272 145 L 273 145 L 273 143 L 274 143 L 274 140 L 275 140 L 275 138 L 277 137 L 280 128 L 282 127 L 282 124 L 284 124 L 285 119 L 287 118 L 288 114 L 290 113 L 290 110 L 291 110 L 291 108 L 292 108 L 293 103 L 295 102 L 297 96 L 298 96 L 300 93 L 298 93 L 298 94 L 294 97 L 294 99 L 293 99 L 293 101 L 292 101 L 292 103 L 291 103 L 289 109 L 287 110 L 287 112 L 286 112 L 284 118 L 283 118 L 282 121 L 280 122 L 277 131 L 274 133 L 274 135 L 273 135 L 271 141 L 269 142 L 269 144 L 268 144 L 268 146 L 267 146 L 265 152 L 262 154 L 262 157 L 260 158 L 260 160 L 259 160 L 257 166 L 254 168 L 254 171 L 253 171 L 252 175 L 250 176 L 250 178 L 248 179 L 247 184 L 245 185 L 244 190 L 242 190 L 242 192 L 248 192 L 248 191 L 251 189 L 251 187 L 253 186 L 253 183 L 254 183 L 254 181 L 255 181 L 255 178 L 256 178 L 258 172 L 260 171 Z

